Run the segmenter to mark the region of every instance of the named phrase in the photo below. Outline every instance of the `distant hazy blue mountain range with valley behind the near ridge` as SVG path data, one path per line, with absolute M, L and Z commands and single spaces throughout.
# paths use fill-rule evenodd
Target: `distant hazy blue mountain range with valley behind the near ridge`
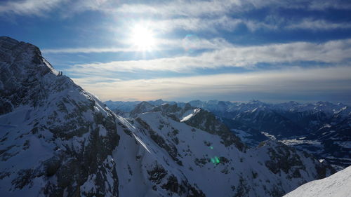
M 161 104 L 204 109 L 216 116 L 249 147 L 265 140 L 278 140 L 291 147 L 307 151 L 333 165 L 351 165 L 351 107 L 346 104 L 316 102 L 301 104 L 285 102 L 268 104 L 194 100 L 184 102 L 148 101 L 147 110 Z M 135 114 L 140 102 L 105 102 L 121 116 Z M 145 105 L 145 104 L 144 104 Z

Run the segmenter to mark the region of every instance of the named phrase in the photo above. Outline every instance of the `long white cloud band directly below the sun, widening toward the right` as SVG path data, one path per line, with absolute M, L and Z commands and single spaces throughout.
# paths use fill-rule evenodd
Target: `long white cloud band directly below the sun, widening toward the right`
M 275 64 L 314 61 L 338 64 L 350 61 L 350 54 L 351 39 L 326 43 L 295 42 L 265 46 L 233 46 L 202 53 L 198 56 L 77 64 L 69 68 L 68 71 L 72 73 L 135 72 L 140 70 L 189 72 L 199 68 L 254 67 L 260 62 Z

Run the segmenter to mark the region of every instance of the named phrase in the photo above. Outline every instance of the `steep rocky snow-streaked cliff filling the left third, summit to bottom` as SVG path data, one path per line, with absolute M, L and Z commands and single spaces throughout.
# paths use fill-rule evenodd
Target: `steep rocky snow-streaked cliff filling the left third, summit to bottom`
M 118 196 L 112 112 L 36 46 L 1 37 L 0 48 L 1 193 Z

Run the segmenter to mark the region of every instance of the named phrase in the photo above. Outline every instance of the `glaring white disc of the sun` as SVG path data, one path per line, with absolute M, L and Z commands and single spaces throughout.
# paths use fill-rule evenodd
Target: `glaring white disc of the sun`
M 132 29 L 131 43 L 138 50 L 152 50 L 156 46 L 152 29 L 145 25 L 135 25 Z

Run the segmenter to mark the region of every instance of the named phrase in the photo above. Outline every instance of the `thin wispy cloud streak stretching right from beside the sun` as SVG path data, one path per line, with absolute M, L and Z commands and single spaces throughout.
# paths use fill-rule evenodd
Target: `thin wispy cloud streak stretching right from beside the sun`
M 277 18 L 277 16 L 274 16 Z M 150 27 L 161 32 L 171 32 L 175 29 L 184 29 L 192 32 L 218 32 L 220 30 L 234 31 L 239 25 L 245 25 L 251 32 L 262 29 L 282 30 L 282 29 L 310 29 L 310 30 L 333 30 L 350 29 L 350 22 L 329 22 L 312 18 L 302 18 L 301 20 L 291 20 L 280 18 L 280 21 L 267 20 L 247 20 L 243 18 L 229 18 L 221 16 L 219 18 L 176 18 L 168 20 L 154 20 Z

